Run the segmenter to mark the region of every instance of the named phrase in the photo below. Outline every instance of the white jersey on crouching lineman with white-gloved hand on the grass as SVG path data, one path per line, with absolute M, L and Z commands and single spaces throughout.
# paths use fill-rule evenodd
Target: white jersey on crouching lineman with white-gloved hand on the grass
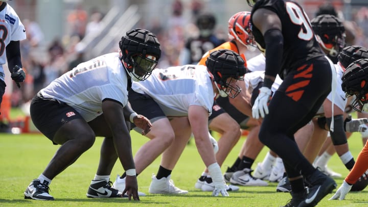
M 152 97 L 167 117 L 186 117 L 191 105 L 212 113 L 215 93 L 204 65 L 157 68 L 145 81 L 133 82 L 132 89 Z

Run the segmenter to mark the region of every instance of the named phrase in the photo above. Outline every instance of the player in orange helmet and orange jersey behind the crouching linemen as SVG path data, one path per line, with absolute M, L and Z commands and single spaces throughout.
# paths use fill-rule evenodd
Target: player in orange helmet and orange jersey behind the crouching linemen
M 228 49 L 239 53 L 244 59 L 244 65 L 246 66 L 245 53 L 257 49 L 251 34 L 249 18 L 250 12 L 247 11 L 238 12 L 229 18 L 228 36 L 230 40 L 206 52 L 198 64 L 204 65 L 211 52 Z M 239 153 L 234 165 L 231 168 L 227 168 L 224 173 L 224 180 L 242 186 L 267 186 L 267 182 L 254 178 L 250 174 L 251 165 L 254 163 L 258 153 L 262 150 L 263 144 L 258 140 L 259 124 L 257 120 L 248 117 L 251 114 L 251 108 L 247 103 L 249 94 L 247 93 L 244 82 L 239 82 L 239 86 L 242 88 L 242 91 L 234 99 L 228 97 L 219 97 L 216 99 L 216 104 L 214 105 L 214 109 L 216 110 L 209 118 L 210 129 L 221 134 L 218 141 L 219 152 L 216 153 L 216 160 L 221 166 L 228 153 L 238 142 L 241 135 L 239 126 L 243 129 L 249 129 L 251 132 L 249 132 L 246 141 L 248 144 L 244 143 L 244 148 Z M 234 129 L 235 126 L 238 127 L 237 131 Z M 238 132 L 238 135 L 234 134 L 234 132 Z M 211 177 L 208 176 L 208 169 L 204 170 L 197 180 L 195 187 L 203 191 L 213 189 Z

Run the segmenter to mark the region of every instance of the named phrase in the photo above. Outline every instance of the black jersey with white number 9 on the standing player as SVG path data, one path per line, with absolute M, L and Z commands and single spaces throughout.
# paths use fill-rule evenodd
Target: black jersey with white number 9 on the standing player
M 283 59 L 279 73 L 281 77 L 301 62 L 325 55 L 315 38 L 309 18 L 300 5 L 288 0 L 259 0 L 251 13 L 260 8 L 271 10 L 281 20 L 284 37 Z M 250 16 L 252 33 L 259 49 L 264 53 L 266 48 L 264 38 L 261 31 L 252 24 L 252 14 Z

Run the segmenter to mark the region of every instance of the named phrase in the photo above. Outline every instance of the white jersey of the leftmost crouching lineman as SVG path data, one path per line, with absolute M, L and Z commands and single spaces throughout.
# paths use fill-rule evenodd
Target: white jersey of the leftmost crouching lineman
M 40 92 L 44 98 L 53 98 L 75 108 L 89 122 L 102 113 L 104 99 L 113 99 L 125 106 L 127 85 L 119 53 L 109 53 L 80 63 Z

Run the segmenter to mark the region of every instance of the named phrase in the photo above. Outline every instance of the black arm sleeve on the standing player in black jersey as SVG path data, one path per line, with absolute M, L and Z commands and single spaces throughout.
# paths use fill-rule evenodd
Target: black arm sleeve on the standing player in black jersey
M 278 29 L 270 29 L 264 33 L 266 43 L 265 75 L 276 77 L 281 70 L 284 37 Z

